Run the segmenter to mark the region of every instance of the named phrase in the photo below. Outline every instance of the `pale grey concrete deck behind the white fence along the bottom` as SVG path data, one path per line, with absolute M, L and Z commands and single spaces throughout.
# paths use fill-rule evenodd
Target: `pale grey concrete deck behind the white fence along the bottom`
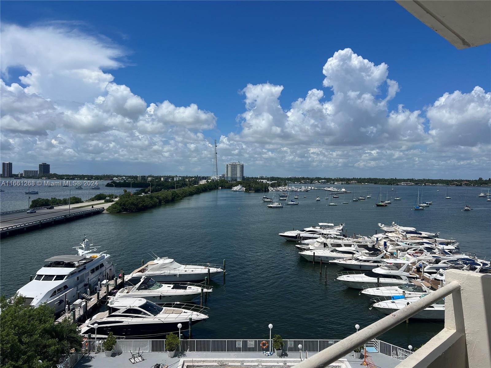
M 312 355 L 314 354 L 309 354 L 309 356 Z M 75 365 L 75 368 L 152 368 L 156 364 L 164 364 L 170 368 L 178 368 L 181 359 L 195 359 L 197 361 L 223 360 L 223 362 L 226 362 L 227 360 L 261 359 L 263 364 L 268 364 L 267 360 L 271 360 L 273 364 L 278 361 L 285 361 L 288 366 L 292 366 L 300 361 L 300 353 L 285 353 L 281 358 L 276 355 L 265 356 L 262 353 L 176 353 L 173 358 L 169 358 L 167 353 L 142 353 L 142 356 L 145 359 L 144 361 L 132 364 L 129 361 L 131 353 L 120 353 L 110 358 L 106 357 L 104 353 L 91 353 L 84 355 L 77 365 Z M 370 353 L 369 356 L 371 362 L 370 360 L 368 361 L 380 368 L 394 368 L 400 363 L 400 361 L 380 353 Z M 305 358 L 305 353 L 302 353 L 302 358 Z M 353 354 L 346 355 L 342 359 L 344 360 L 343 363 L 351 368 L 359 368 L 363 362 L 361 359 L 355 359 Z M 254 362 L 244 363 L 254 364 Z

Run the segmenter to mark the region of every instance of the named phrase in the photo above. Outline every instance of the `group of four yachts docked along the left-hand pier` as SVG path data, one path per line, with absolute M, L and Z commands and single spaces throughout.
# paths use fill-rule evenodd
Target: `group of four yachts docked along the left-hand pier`
M 82 305 L 82 298 L 90 299 L 90 294 L 116 277 L 110 255 L 88 239 L 75 248 L 77 255 L 48 258 L 35 277 L 18 290 L 27 305 L 47 304 L 55 314 L 68 313 Z M 204 320 L 207 308 L 185 302 L 212 292 L 212 287 L 193 282 L 223 272 L 220 265 L 180 264 L 156 257 L 124 277 L 124 287 L 109 297 L 108 309 L 82 323 L 81 333 L 155 338 L 177 331 L 179 323 Z

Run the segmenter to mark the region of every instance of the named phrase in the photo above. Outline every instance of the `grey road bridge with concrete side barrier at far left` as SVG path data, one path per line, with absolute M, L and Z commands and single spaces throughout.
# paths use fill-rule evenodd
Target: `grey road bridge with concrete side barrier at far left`
M 43 226 L 54 225 L 60 221 L 102 213 L 111 204 L 112 202 L 92 201 L 70 206 L 56 206 L 52 210 L 46 209 L 46 206 L 36 209 L 35 213 L 27 213 L 27 209 L 2 212 L 0 213 L 0 236 L 4 237 L 16 234 L 19 231 L 32 230 Z

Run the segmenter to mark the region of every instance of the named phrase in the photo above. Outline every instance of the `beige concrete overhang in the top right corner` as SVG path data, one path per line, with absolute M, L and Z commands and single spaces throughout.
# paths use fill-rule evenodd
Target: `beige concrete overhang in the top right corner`
M 396 0 L 457 49 L 491 42 L 490 0 Z

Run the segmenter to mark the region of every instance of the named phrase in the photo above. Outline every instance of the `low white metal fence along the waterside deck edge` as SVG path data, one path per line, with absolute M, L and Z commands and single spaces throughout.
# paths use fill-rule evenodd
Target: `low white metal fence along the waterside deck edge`
M 98 340 L 97 345 L 101 345 L 103 340 Z M 283 340 L 283 351 L 288 353 L 300 352 L 299 345 L 301 345 L 301 351 L 309 353 L 318 353 L 327 347 L 334 345 L 340 340 Z M 263 348 L 261 344 L 267 347 Z M 95 340 L 85 340 L 86 349 L 88 353 L 96 352 Z M 406 359 L 412 352 L 403 349 L 399 346 L 389 344 L 380 340 L 371 340 L 366 342 L 365 347 L 367 352 L 381 353 L 397 360 Z M 199 352 L 199 353 L 261 353 L 263 351 L 271 351 L 271 342 L 268 339 L 245 339 L 245 340 L 208 340 L 208 339 L 191 339 L 181 340 L 178 351 L 186 352 Z M 102 351 L 99 348 L 99 351 Z M 117 353 L 129 353 L 129 352 L 145 352 L 145 353 L 163 353 L 165 352 L 165 340 L 117 340 L 114 351 Z M 64 368 L 64 367 L 63 367 Z

